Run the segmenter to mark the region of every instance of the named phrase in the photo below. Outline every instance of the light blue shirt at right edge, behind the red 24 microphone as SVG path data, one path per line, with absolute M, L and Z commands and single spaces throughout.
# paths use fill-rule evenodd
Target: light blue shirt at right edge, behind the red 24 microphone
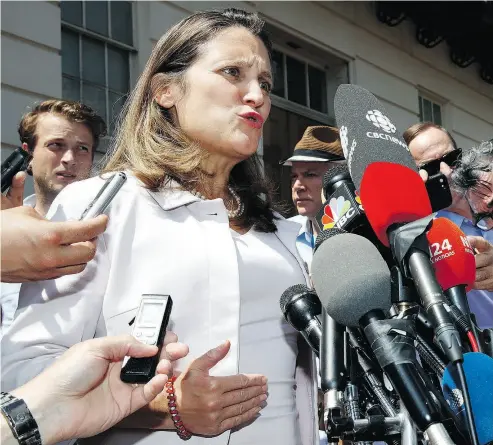
M 447 210 L 440 210 L 437 217 L 444 217 L 452 221 L 458 226 L 465 235 L 480 236 L 486 241 L 493 244 L 493 230 L 481 230 L 476 227 L 467 218 L 464 218 L 457 213 L 452 213 Z M 471 312 L 476 316 L 477 324 L 480 328 L 493 327 L 493 292 L 486 290 L 471 290 L 467 293 L 469 307 Z

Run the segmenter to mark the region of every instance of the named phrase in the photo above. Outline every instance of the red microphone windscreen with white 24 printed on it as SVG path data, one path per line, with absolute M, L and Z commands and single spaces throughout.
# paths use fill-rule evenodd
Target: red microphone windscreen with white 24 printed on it
M 470 290 L 476 280 L 476 260 L 467 236 L 447 218 L 436 218 L 426 234 L 431 263 L 443 290 L 465 285 Z

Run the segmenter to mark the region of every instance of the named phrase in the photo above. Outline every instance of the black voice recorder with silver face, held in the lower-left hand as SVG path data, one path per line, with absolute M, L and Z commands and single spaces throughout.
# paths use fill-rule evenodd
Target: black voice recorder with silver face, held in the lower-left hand
M 132 335 L 142 343 L 155 345 L 153 357 L 125 357 L 120 379 L 125 383 L 147 383 L 156 374 L 173 300 L 169 295 L 144 294 L 134 320 Z

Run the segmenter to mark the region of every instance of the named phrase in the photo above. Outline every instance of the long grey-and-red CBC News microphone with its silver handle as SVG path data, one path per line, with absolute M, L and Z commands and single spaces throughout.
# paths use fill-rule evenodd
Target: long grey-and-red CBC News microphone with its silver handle
M 346 144 L 349 170 L 368 221 L 378 239 L 391 247 L 405 275 L 414 279 L 437 342 L 451 361 L 459 361 L 459 333 L 444 307 L 428 243 L 423 240 L 429 221 L 420 220 L 432 213 L 430 199 L 409 148 L 380 102 L 364 88 L 340 85 L 334 107 L 341 144 L 343 149 Z

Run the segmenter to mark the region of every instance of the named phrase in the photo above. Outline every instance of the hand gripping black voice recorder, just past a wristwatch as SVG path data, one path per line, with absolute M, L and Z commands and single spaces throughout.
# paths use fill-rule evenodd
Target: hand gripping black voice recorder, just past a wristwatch
M 172 333 L 167 336 L 176 338 Z M 43 373 L 12 393 L 30 408 L 43 443 L 90 437 L 140 409 L 164 389 L 166 374 L 171 372 L 168 360 L 159 363 L 160 374 L 145 385 L 120 380 L 126 355 L 150 357 L 157 350 L 130 335 L 88 340 L 72 346 Z M 180 358 L 188 349 L 181 347 L 181 351 Z

